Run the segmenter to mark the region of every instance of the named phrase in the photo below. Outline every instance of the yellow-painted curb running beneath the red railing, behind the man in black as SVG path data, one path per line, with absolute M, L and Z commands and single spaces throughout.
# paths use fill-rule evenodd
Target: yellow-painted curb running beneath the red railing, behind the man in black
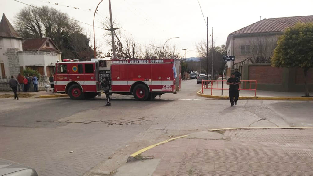
M 218 99 L 228 99 L 228 96 L 218 96 L 218 95 L 208 95 L 200 93 L 201 90 L 197 92 L 200 97 L 206 98 L 218 98 Z M 239 100 L 313 100 L 313 97 L 239 97 Z

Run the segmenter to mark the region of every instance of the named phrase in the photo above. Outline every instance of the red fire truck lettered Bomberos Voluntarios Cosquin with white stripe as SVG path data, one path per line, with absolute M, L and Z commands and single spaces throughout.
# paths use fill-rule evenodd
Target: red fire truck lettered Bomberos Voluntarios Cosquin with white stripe
M 110 78 L 110 93 L 147 100 L 180 89 L 180 64 L 173 59 L 99 60 L 59 62 L 54 72 L 54 92 L 72 99 L 101 96 L 99 84 Z

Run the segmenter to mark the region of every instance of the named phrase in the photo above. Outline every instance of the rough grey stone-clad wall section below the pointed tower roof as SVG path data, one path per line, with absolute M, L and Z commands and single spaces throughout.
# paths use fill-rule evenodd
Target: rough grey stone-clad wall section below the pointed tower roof
M 8 48 L 5 54 L 8 56 L 8 64 L 10 69 L 10 76 L 17 76 L 20 73 L 20 65 L 18 60 L 19 48 Z

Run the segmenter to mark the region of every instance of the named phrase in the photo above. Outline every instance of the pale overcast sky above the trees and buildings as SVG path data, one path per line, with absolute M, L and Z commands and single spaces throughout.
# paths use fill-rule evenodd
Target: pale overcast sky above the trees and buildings
M 47 5 L 81 22 L 92 24 L 93 13 L 100 0 L 19 0 L 36 6 Z M 48 1 L 50 3 L 48 3 Z M 264 18 L 313 15 L 312 0 L 199 0 L 204 17 L 209 17 L 209 33 L 213 27 L 215 45 L 226 43 L 229 33 L 248 26 Z M 58 3 L 59 5 L 54 5 Z M 79 9 L 68 8 L 73 6 Z M 136 42 L 150 46 L 151 43 L 175 44 L 183 56 L 183 48 L 187 48 L 186 58 L 197 57 L 195 43 L 206 40 L 206 25 L 197 0 L 111 0 L 112 15 L 126 35 L 132 36 Z M 13 24 L 15 14 L 26 5 L 13 0 L 1 0 L 0 13 L 5 13 Z M 89 11 L 88 9 L 91 9 Z M 104 0 L 95 18 L 95 26 L 109 17 L 108 0 Z M 92 27 L 81 24 L 86 33 L 92 34 Z M 96 40 L 104 43 L 103 30 L 96 29 Z M 107 47 L 106 47 L 107 48 Z M 106 51 L 105 51 L 106 52 Z

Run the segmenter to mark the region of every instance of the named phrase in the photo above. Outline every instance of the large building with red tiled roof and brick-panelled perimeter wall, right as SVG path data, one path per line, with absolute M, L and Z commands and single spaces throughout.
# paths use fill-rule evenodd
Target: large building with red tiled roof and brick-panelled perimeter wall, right
M 259 90 L 302 92 L 304 74 L 300 68 L 273 68 L 270 57 L 277 40 L 286 28 L 296 23 L 313 22 L 313 15 L 285 18 L 268 18 L 230 33 L 226 42 L 227 55 L 235 61 L 228 62 L 227 75 L 239 68 L 242 79 L 257 80 Z M 310 91 L 313 90 L 313 69 L 309 70 Z

